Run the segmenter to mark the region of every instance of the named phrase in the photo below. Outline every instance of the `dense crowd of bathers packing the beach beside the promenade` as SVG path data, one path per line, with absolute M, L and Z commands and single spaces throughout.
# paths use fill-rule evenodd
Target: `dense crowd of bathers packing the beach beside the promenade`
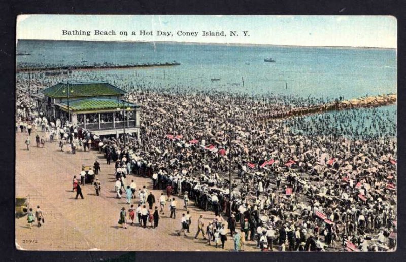
M 75 77 L 78 81 L 100 78 L 91 71 L 75 72 Z M 24 73 L 17 74 L 17 122 L 38 124 L 41 119 L 49 133 L 63 130 L 67 143 L 77 138 L 90 144 L 97 139 L 107 163 L 113 160 L 117 168 L 125 169 L 121 174 L 150 177 L 154 189 L 166 192 L 167 200 L 171 194 L 182 196 L 186 209 L 194 201 L 213 210 L 217 220 L 199 231 L 206 231 L 209 243 L 226 241 L 222 236 L 229 234 L 238 250 L 246 241 L 255 241 L 262 250 L 277 245 L 281 251 L 395 248 L 396 123 L 387 125 L 388 119 L 377 110 L 258 121 L 264 111 L 290 110 L 325 99 L 248 96 L 181 84 L 153 87 L 154 82 L 129 80 L 111 71 L 103 74 L 103 80 L 130 91 L 129 100 L 141 105 L 141 139 L 127 134 L 125 148 L 123 135 L 94 138 L 69 123 L 63 126 L 44 119 L 44 113 L 27 99 Z M 58 76 L 42 77 L 30 85 L 41 89 L 56 81 Z M 359 126 L 352 127 L 354 119 Z M 369 128 L 361 128 L 366 120 Z M 135 219 L 143 227 L 154 227 L 155 214 L 159 217 L 163 209 L 148 208 L 144 189 L 139 192 L 140 206 L 131 206 L 135 188 L 127 188 L 122 177 L 117 176 L 117 197 L 120 190 L 125 192 L 130 208 L 128 214 L 126 208 L 120 212 L 121 224 L 126 227 L 130 217 L 131 223 Z M 171 213 L 175 218 L 176 207 Z M 221 221 L 221 215 L 227 221 Z M 186 213 L 182 220 L 188 220 Z M 184 227 L 182 222 L 179 234 L 187 231 Z

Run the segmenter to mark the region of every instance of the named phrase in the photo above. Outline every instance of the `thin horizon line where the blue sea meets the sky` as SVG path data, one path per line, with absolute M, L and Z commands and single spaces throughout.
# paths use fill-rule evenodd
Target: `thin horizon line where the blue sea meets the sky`
M 188 42 L 188 41 L 134 41 L 134 40 L 75 40 L 75 39 L 16 39 L 27 41 L 83 41 L 83 42 L 132 42 L 132 43 L 167 43 L 167 44 L 200 44 L 200 45 L 234 45 L 234 46 L 281 46 L 281 47 L 324 47 L 324 48 L 375 48 L 375 49 L 395 49 L 397 47 L 368 47 L 368 46 L 307 46 L 307 45 L 286 45 L 286 44 L 258 44 L 258 43 L 218 43 L 218 42 Z

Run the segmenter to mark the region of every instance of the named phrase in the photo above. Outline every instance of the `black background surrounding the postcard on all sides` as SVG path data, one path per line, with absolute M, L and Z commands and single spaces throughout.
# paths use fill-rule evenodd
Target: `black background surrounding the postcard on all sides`
M 404 1 L 3 1 L 0 0 L 0 261 L 405 261 Z M 42 252 L 18 251 L 14 239 L 15 26 L 18 14 L 392 15 L 398 21 L 398 244 L 391 253 Z M 269 25 L 272 26 L 272 25 Z M 46 182 L 45 182 L 46 186 Z M 148 245 L 149 243 L 141 242 Z M 131 248 L 131 247 L 129 247 Z M 110 258 L 110 259 L 109 259 Z

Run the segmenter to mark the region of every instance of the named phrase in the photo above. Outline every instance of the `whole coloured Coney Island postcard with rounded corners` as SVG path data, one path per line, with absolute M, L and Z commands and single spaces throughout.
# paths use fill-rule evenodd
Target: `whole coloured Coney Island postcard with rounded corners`
M 17 249 L 396 250 L 396 18 L 16 30 Z

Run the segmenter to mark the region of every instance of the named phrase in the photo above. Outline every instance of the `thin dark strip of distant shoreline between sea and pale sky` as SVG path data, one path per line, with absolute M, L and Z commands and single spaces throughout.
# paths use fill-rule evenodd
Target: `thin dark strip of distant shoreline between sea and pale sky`
M 58 41 L 58 42 L 123 42 L 123 43 L 143 43 L 143 44 L 170 44 L 170 45 L 211 45 L 211 46 L 244 46 L 244 47 L 287 47 L 287 48 L 326 48 L 326 49 L 378 49 L 397 50 L 392 47 L 360 47 L 360 46 L 297 46 L 297 45 L 277 45 L 277 44 L 245 44 L 245 43 L 205 43 L 205 42 L 176 42 L 176 41 L 118 41 L 118 40 L 52 40 L 52 39 L 18 39 L 17 41 Z

